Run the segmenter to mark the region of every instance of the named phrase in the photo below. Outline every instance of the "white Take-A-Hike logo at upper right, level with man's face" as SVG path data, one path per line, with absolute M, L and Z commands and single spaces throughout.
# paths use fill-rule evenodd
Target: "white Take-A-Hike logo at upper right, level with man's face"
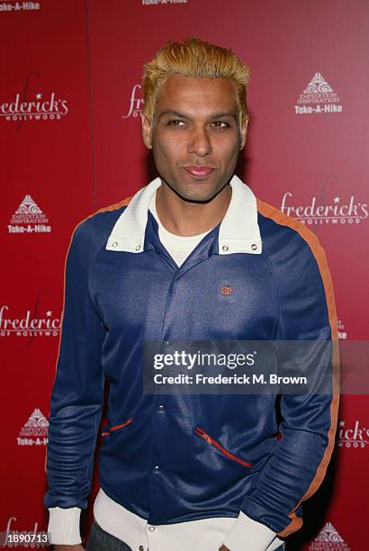
M 342 113 L 339 97 L 321 73 L 315 73 L 294 105 L 296 114 Z

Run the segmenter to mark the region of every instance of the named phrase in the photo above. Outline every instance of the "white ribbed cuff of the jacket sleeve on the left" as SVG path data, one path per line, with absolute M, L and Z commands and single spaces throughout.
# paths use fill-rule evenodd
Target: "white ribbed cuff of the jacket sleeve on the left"
M 49 542 L 59 546 L 76 546 L 82 543 L 79 518 L 81 510 L 79 507 L 70 507 L 63 509 L 62 507 L 49 508 Z

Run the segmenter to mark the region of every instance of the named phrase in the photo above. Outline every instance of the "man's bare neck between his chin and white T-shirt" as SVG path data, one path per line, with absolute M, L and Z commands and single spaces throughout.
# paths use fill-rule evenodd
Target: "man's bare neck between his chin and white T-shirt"
M 232 188 L 226 185 L 209 203 L 184 201 L 162 182 L 157 188 L 157 216 L 166 230 L 189 237 L 211 230 L 223 220 Z

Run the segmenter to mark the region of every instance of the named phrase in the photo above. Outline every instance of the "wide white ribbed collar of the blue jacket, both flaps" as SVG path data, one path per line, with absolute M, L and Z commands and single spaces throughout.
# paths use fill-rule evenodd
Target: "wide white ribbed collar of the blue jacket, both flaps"
M 160 185 L 161 180 L 157 177 L 132 197 L 115 222 L 106 243 L 107 250 L 132 253 L 143 251 L 148 207 Z M 232 196 L 227 212 L 220 222 L 219 254 L 258 255 L 262 251 L 262 241 L 257 225 L 257 199 L 238 176 L 233 176 L 229 185 L 232 187 Z

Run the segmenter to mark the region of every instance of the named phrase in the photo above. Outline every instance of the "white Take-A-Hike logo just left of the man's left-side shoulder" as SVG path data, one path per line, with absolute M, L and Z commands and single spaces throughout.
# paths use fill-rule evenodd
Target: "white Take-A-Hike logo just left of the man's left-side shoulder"
M 9 233 L 49 233 L 49 219 L 31 195 L 25 195 L 8 224 Z

